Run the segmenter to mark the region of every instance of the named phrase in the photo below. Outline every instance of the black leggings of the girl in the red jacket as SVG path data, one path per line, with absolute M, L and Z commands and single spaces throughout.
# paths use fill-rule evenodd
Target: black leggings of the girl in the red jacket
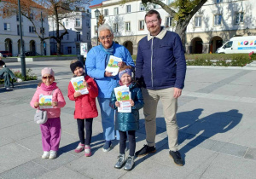
M 79 130 L 79 139 L 82 144 L 90 145 L 91 134 L 92 134 L 92 119 L 93 118 L 77 118 L 78 130 Z M 84 138 L 84 124 L 86 131 L 86 140 Z

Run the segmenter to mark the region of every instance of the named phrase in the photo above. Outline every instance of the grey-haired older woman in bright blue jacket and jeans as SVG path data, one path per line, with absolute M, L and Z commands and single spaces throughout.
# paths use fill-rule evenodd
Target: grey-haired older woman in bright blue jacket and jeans
M 110 96 L 119 82 L 119 76 L 112 76 L 112 72 L 105 71 L 108 65 L 110 55 L 122 59 L 118 66 L 132 66 L 134 62 L 128 49 L 118 43 L 113 42 L 113 31 L 108 24 L 103 24 L 98 28 L 100 45 L 90 49 L 86 61 L 85 68 L 87 74 L 96 80 L 99 87 L 98 102 L 101 107 L 102 128 L 105 139 L 103 152 L 111 149 L 111 143 L 115 139 L 113 108 L 109 107 Z M 117 139 L 119 134 L 117 132 Z

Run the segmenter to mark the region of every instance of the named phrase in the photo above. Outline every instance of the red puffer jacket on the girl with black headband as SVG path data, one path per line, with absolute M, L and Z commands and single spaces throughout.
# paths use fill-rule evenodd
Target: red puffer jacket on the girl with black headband
M 98 87 L 93 78 L 89 76 L 84 77 L 84 80 L 89 84 L 90 88 L 89 94 L 80 95 L 79 97 L 74 97 L 73 94 L 75 90 L 71 82 L 68 84 L 68 98 L 71 101 L 75 101 L 75 111 L 74 118 L 96 118 L 98 116 L 98 111 L 96 108 L 96 96 L 98 95 Z

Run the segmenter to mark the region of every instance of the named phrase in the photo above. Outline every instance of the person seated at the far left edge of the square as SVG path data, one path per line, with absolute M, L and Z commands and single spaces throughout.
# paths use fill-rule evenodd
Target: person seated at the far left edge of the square
M 0 53 L 0 77 L 4 79 L 4 87 L 6 90 L 11 90 L 9 79 L 15 79 L 18 83 L 22 82 L 22 79 L 15 77 L 15 74 L 6 67 L 4 61 L 2 61 L 3 55 Z

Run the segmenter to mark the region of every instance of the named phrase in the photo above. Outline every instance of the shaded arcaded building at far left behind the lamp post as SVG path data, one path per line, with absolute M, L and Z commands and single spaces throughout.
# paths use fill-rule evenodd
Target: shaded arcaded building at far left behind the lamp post
M 3 6 L 3 1 L 0 2 L 0 6 Z M 33 4 L 32 4 L 33 7 Z M 38 7 L 38 4 L 37 4 Z M 42 7 L 42 9 L 44 9 Z M 41 9 L 33 9 L 38 12 Z M 32 16 L 34 14 L 31 14 Z M 23 33 L 23 42 L 24 42 L 24 51 L 33 51 L 38 54 L 44 54 L 44 47 L 38 38 L 38 35 L 35 31 L 40 32 L 41 20 L 33 20 L 37 24 L 37 29 L 32 26 L 32 22 L 27 20 L 26 17 L 21 17 L 22 22 L 22 33 Z M 0 51 L 9 51 L 13 56 L 20 54 L 20 21 L 19 15 L 13 15 L 9 18 L 3 19 L 0 16 Z M 44 36 L 48 36 L 48 20 L 44 19 L 43 21 Z M 46 44 L 46 55 L 49 55 L 49 40 L 45 40 Z

